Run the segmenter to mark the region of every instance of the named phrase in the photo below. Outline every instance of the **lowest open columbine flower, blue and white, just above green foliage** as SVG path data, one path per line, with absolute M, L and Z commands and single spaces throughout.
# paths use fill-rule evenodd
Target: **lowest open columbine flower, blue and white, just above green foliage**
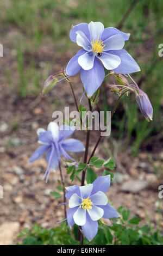
M 86 186 L 67 187 L 66 198 L 69 208 L 67 210 L 67 223 L 71 228 L 74 223 L 82 226 L 84 235 L 92 240 L 98 231 L 100 218 L 119 217 L 118 212 L 108 204 L 105 193 L 110 187 L 110 175 L 98 177 L 92 184 Z

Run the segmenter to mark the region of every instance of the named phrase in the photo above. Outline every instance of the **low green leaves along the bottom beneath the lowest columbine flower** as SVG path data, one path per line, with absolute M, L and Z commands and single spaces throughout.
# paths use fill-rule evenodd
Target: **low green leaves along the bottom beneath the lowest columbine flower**
M 130 210 L 122 206 L 118 209 L 120 218 L 112 220 L 112 226 L 99 222 L 98 234 L 92 241 L 84 238 L 84 245 L 163 245 L 160 230 L 154 230 L 151 225 L 139 226 L 140 218 L 130 217 Z M 68 228 L 66 222 L 60 227 L 50 230 L 34 224 L 32 229 L 23 229 L 18 238 L 23 237 L 18 245 L 79 245 L 77 241 L 78 226 Z

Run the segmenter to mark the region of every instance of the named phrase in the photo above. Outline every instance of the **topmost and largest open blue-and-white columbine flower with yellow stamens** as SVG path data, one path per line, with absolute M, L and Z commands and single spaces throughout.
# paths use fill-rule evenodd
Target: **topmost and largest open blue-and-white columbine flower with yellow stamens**
M 129 36 L 116 28 L 104 28 L 101 22 L 91 21 L 72 27 L 70 39 L 83 49 L 68 62 L 66 73 L 74 76 L 81 71 L 81 80 L 88 97 L 96 92 L 104 80 L 103 66 L 118 74 L 140 71 L 135 60 L 122 49 Z

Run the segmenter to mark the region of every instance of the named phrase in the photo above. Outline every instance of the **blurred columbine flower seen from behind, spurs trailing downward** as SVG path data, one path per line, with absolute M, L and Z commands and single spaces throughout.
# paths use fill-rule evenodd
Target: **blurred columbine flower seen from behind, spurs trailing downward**
M 74 161 L 66 151 L 70 152 L 81 152 L 84 151 L 84 145 L 78 139 L 67 139 L 74 132 L 74 126 L 62 125 L 59 129 L 57 123 L 51 122 L 48 124 L 47 131 L 43 128 L 37 130 L 37 135 L 39 136 L 39 143 L 43 144 L 37 148 L 33 155 L 30 157 L 29 162 L 37 160 L 46 151 L 46 160 L 48 162 L 48 167 L 46 169 L 43 179 L 46 177 L 46 182 L 48 181 L 48 176 L 52 169 L 56 169 L 59 165 L 61 156 L 63 155 L 65 159 L 71 159 Z

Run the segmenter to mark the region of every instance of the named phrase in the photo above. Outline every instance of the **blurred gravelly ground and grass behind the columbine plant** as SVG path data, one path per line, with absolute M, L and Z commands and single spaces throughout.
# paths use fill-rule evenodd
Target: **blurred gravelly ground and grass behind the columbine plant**
M 69 38 L 71 26 L 90 21 L 131 34 L 124 48 L 141 68 L 133 77 L 154 109 L 153 121 L 148 123 L 137 109 L 134 95 L 124 96 L 118 106 L 111 136 L 96 151 L 102 159 L 111 156 L 116 162 L 108 197 L 115 208 L 126 206 L 143 224 L 162 228 L 162 201 L 158 200 L 158 187 L 163 185 L 163 57 L 158 54 L 163 44 L 162 0 L 6 0 L 0 2 L 0 10 L 0 185 L 4 191 L 0 233 L 5 234 L 5 238 L 0 235 L 0 244 L 13 243 L 24 227 L 34 223 L 55 227 L 64 218 L 62 207 L 57 207 L 62 198 L 55 200 L 50 195 L 57 190 L 58 170 L 45 184 L 41 180 L 47 167 L 45 158 L 34 163 L 28 160 L 37 148 L 36 130 L 46 129 L 54 111 L 64 111 L 64 106 L 75 109 L 64 81 L 46 96 L 40 93 L 46 78 L 66 68 L 79 50 Z M 79 100 L 83 94 L 79 75 L 71 81 Z M 106 78 L 99 100 L 99 109 L 105 111 L 111 111 L 117 99 L 108 84 Z M 84 132 L 76 132 L 74 137 L 85 143 Z M 92 131 L 89 154 L 96 139 L 97 133 Z M 63 170 L 70 185 L 64 166 Z M 131 181 L 135 191 L 127 183 Z

